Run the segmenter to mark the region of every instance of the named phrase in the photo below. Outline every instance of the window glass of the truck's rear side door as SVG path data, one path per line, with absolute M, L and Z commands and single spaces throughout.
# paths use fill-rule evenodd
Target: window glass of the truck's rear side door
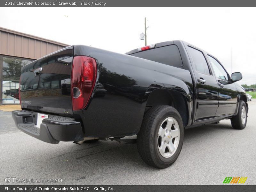
M 210 70 L 204 55 L 201 51 L 188 46 L 188 52 L 190 53 L 193 63 L 195 65 L 196 71 L 204 74 L 210 75 Z

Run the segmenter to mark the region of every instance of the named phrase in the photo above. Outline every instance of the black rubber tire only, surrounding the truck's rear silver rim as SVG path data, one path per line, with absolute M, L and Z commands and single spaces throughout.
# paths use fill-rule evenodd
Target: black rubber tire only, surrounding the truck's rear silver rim
M 166 158 L 160 154 L 158 149 L 158 132 L 162 122 L 168 117 L 172 117 L 177 121 L 180 130 L 180 138 L 178 146 L 175 149 L 176 151 L 174 151 L 170 157 Z M 144 115 L 140 132 L 137 135 L 137 148 L 140 157 L 145 163 L 162 169 L 172 165 L 176 161 L 180 155 L 183 140 L 184 126 L 179 112 L 171 106 L 160 105 L 150 108 Z

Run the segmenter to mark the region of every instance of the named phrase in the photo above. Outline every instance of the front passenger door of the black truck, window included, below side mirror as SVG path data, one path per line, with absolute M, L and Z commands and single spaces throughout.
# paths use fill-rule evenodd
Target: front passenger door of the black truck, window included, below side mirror
M 218 81 L 219 107 L 217 109 L 216 116 L 234 114 L 237 102 L 236 85 L 231 82 L 227 71 L 217 59 L 209 54 L 207 57 Z

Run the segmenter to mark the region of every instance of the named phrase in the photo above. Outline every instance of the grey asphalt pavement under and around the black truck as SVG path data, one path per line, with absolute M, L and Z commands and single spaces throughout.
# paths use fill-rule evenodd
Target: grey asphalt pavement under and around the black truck
M 166 169 L 145 164 L 136 144 L 45 143 L 0 110 L 0 185 L 222 185 L 226 177 L 256 185 L 256 99 L 248 103 L 244 130 L 234 130 L 230 120 L 185 130 L 180 156 Z

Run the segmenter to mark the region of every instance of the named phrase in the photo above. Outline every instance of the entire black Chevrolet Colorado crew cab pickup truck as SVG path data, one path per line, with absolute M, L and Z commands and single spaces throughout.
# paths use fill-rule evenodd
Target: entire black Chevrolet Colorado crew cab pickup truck
M 230 119 L 244 129 L 240 79 L 184 41 L 126 54 L 74 45 L 21 69 L 22 110 L 12 116 L 21 131 L 53 144 L 137 135 L 141 158 L 165 168 L 178 158 L 185 128 Z

